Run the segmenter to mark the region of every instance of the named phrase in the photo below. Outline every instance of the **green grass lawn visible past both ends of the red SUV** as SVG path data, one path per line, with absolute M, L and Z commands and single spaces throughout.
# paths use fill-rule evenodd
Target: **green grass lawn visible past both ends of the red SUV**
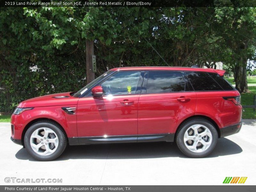
M 251 93 L 242 93 L 241 94 L 242 105 L 253 105 L 253 95 L 256 95 L 256 86 L 250 86 L 249 89 L 250 89 Z M 253 108 L 244 108 L 242 118 L 243 119 L 256 119 L 256 109 L 255 109 L 255 112 L 253 112 Z M 11 115 L 0 115 L 0 123 L 10 122 L 10 121 L 11 121 Z

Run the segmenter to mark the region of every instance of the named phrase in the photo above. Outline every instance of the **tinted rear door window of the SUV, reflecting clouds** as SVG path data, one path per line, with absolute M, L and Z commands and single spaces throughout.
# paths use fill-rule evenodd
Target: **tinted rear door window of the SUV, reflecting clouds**
M 180 72 L 149 71 L 147 93 L 184 92 L 185 80 Z

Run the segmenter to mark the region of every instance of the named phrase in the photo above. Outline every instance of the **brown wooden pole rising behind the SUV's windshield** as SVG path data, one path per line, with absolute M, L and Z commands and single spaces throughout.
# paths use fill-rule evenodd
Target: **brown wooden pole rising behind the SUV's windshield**
M 86 40 L 86 82 L 87 84 L 95 79 L 95 75 L 92 72 L 92 55 L 94 54 L 93 41 Z

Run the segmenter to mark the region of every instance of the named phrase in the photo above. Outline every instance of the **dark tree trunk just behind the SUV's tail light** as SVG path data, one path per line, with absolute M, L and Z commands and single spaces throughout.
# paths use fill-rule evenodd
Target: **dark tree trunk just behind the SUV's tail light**
M 234 69 L 236 89 L 240 93 L 248 91 L 248 85 L 247 85 L 247 79 L 246 79 L 246 65 L 247 65 L 247 60 L 242 58 L 241 64 L 236 64 Z

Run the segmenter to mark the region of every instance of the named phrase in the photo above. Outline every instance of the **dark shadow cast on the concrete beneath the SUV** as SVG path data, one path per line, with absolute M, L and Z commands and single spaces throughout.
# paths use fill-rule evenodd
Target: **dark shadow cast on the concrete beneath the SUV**
M 242 151 L 242 148 L 233 141 L 221 138 L 218 140 L 214 151 L 206 158 L 238 154 Z M 21 148 L 15 156 L 21 160 L 36 161 L 28 154 L 25 148 Z M 141 159 L 163 157 L 189 158 L 180 152 L 175 143 L 159 142 L 67 146 L 64 153 L 54 161 L 68 159 Z

